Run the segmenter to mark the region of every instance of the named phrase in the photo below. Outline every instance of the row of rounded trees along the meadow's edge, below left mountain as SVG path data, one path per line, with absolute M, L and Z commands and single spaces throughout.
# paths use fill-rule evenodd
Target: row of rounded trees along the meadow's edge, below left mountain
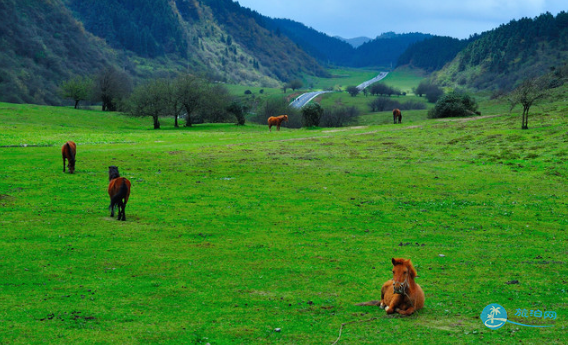
M 194 123 L 226 122 L 236 118 L 245 123 L 245 106 L 229 94 L 227 88 L 206 76 L 181 74 L 173 78 L 155 78 L 132 87 L 129 76 L 112 67 L 93 77 L 76 76 L 62 83 L 61 94 L 72 99 L 75 108 L 81 101 L 100 103 L 103 111 L 121 111 L 133 116 L 149 116 L 154 129 L 160 117 L 173 117 L 174 126 L 185 119 Z

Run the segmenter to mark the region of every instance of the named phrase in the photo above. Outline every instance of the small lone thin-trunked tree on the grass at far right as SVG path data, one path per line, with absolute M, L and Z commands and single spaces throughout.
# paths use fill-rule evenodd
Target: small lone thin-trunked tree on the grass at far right
M 549 80 L 544 77 L 527 79 L 509 94 L 511 111 L 517 104 L 523 106 L 521 129 L 529 129 L 529 110 L 533 104 L 546 98 Z

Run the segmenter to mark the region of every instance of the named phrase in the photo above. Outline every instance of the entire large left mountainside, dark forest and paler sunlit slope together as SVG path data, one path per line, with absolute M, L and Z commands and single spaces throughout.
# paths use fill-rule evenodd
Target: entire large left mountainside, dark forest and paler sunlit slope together
M 0 101 L 59 104 L 62 81 L 107 66 L 267 87 L 327 73 L 232 0 L 3 0 L 0 15 Z

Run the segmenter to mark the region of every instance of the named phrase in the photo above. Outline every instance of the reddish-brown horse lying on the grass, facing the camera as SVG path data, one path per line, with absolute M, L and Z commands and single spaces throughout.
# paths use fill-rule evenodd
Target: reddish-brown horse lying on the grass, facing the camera
M 378 305 L 387 314 L 397 312 L 411 315 L 424 307 L 424 291 L 416 284 L 416 270 L 406 259 L 392 259 L 392 279 L 383 284 L 381 300 L 359 303 L 357 305 Z

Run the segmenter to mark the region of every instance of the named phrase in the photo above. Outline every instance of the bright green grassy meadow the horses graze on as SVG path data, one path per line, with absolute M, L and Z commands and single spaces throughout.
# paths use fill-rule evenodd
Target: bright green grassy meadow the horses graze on
M 565 343 L 564 95 L 525 131 L 499 103 L 272 133 L 0 104 L 0 343 Z M 109 165 L 132 182 L 126 222 Z M 392 257 L 426 294 L 411 317 L 354 305 Z M 491 303 L 553 327 L 490 330 Z

